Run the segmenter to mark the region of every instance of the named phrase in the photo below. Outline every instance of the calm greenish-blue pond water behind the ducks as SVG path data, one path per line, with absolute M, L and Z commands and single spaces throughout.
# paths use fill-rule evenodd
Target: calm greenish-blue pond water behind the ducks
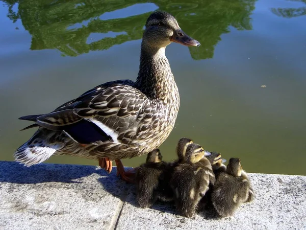
M 248 172 L 306 175 L 306 1 L 169 2 L 3 1 L 0 160 L 13 160 L 34 132 L 18 132 L 31 124 L 20 116 L 52 111 L 107 81 L 135 80 L 146 18 L 160 9 L 201 42 L 166 50 L 181 107 L 160 147 L 164 159 L 189 136 L 224 158 L 240 157 Z M 47 162 L 97 165 L 65 156 Z

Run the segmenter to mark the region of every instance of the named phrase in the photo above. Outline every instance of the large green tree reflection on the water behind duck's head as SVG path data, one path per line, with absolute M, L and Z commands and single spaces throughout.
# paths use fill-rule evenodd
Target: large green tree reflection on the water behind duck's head
M 256 0 L 191 0 L 176 3 L 146 1 L 5 0 L 8 17 L 21 19 L 32 35 L 31 50 L 57 49 L 63 56 L 106 50 L 142 37 L 146 18 L 156 9 L 173 14 L 187 34 L 201 43 L 190 49 L 193 59 L 212 58 L 214 47 L 230 26 L 252 29 L 250 14 Z M 18 8 L 15 10 L 16 6 Z

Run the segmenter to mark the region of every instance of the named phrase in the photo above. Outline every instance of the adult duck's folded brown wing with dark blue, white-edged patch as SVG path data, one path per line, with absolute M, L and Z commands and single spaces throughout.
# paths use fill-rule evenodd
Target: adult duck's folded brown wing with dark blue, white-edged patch
M 125 82 L 99 85 L 53 112 L 20 119 L 35 121 L 50 130 L 64 131 L 81 144 L 131 139 L 137 131 L 142 111 L 152 108 L 132 81 L 122 83 Z

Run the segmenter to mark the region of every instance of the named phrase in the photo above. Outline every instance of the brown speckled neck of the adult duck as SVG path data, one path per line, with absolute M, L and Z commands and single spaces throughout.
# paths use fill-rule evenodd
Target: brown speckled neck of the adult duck
M 160 99 L 165 103 L 171 101 L 174 91 L 178 95 L 170 64 L 165 56 L 165 47 L 156 49 L 148 47 L 144 41 L 141 43 L 136 84 L 148 98 Z

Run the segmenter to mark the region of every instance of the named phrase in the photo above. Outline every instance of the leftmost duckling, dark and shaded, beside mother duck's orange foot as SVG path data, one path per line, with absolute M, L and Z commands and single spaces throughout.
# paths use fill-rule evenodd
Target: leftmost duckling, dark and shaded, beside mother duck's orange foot
M 146 163 L 139 166 L 136 173 L 137 202 L 141 208 L 148 208 L 157 199 L 167 200 L 173 197 L 173 192 L 164 188 L 161 181 L 169 170 L 168 163 L 162 161 L 163 156 L 159 149 L 148 153 Z M 169 180 L 167 182 L 169 184 Z M 170 193 L 170 194 L 169 194 Z

